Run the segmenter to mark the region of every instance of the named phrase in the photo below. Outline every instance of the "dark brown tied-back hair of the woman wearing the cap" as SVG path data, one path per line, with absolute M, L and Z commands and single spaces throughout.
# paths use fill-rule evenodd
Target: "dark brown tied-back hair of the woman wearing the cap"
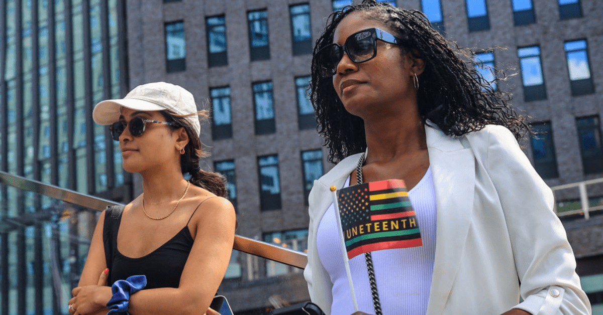
M 209 190 L 216 196 L 226 197 L 227 189 L 224 175 L 203 170 L 199 166 L 201 158 L 209 157 L 209 152 L 203 151 L 203 148 L 201 148 L 201 140 L 197 137 L 197 133 L 193 131 L 191 124 L 186 120 L 188 116 L 177 115 L 169 111 L 161 111 L 161 113 L 168 122 L 177 123 L 178 126 L 172 126 L 172 128 L 177 129 L 182 126 L 188 134 L 189 143 L 185 146 L 185 154 L 180 155 L 182 175 L 188 173 L 191 175 L 189 179 L 191 184 Z M 202 110 L 190 116 L 197 116 L 201 120 L 207 120 L 209 114 L 206 110 Z

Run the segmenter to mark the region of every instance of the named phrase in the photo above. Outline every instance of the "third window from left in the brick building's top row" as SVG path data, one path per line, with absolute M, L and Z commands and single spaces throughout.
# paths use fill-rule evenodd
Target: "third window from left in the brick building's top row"
M 251 61 L 270 59 L 268 11 L 248 12 L 247 22 L 249 23 L 249 52 Z

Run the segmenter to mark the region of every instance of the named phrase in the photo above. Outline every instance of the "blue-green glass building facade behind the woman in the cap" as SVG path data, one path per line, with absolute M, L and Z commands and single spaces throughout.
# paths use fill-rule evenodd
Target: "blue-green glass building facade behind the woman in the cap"
M 129 199 L 118 146 L 92 123 L 96 102 L 127 92 L 125 1 L 2 4 L 0 170 Z M 0 205 L 0 315 L 67 314 L 97 214 L 4 186 Z

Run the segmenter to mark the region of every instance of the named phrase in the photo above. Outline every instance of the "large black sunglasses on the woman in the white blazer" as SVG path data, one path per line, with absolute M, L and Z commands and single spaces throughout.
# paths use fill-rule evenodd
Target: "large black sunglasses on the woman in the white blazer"
M 332 43 L 324 46 L 317 52 L 318 72 L 323 78 L 335 75 L 339 60 L 346 52 L 350 60 L 355 63 L 363 63 L 373 59 L 377 55 L 377 39 L 386 43 L 400 45 L 402 39 L 387 33 L 379 28 L 368 28 L 356 32 L 346 39 L 343 46 Z

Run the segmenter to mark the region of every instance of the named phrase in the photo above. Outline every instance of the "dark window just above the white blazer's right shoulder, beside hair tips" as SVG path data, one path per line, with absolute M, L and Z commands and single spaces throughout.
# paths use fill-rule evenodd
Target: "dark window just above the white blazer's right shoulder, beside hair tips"
M 551 122 L 532 123 L 531 128 L 536 134 L 531 139 L 534 169 L 542 178 L 559 177 Z

